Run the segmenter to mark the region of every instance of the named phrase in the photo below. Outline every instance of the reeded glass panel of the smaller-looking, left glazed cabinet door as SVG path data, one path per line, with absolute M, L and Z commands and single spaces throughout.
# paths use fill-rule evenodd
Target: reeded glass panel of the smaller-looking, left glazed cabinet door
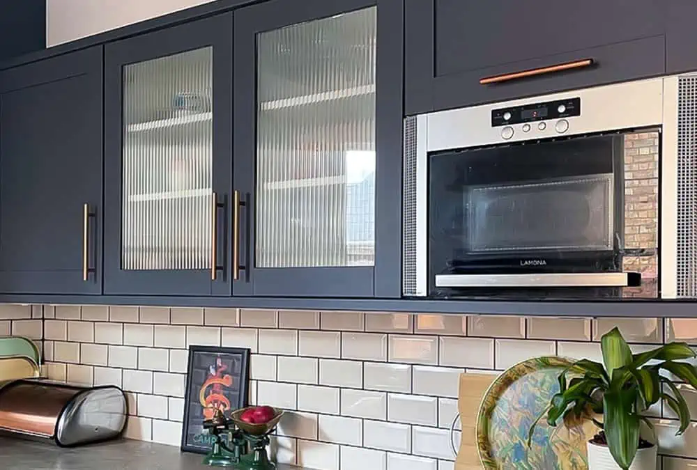
M 210 267 L 210 47 L 123 68 L 123 269 Z

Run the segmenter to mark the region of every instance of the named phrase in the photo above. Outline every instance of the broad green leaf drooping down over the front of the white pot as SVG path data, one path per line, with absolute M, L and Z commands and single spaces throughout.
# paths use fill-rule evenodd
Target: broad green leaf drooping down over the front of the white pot
M 639 446 L 639 415 L 634 410 L 636 387 L 608 390 L 603 397 L 605 436 L 615 462 L 629 469 Z

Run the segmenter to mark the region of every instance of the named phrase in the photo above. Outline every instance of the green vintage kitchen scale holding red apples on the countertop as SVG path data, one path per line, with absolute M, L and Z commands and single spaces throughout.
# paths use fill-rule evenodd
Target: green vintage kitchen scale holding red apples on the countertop
M 263 424 L 252 424 L 240 420 L 246 408 L 238 409 L 226 418 L 217 410 L 213 418 L 204 421 L 204 429 L 213 437 L 213 446 L 204 458 L 210 467 L 231 467 L 236 470 L 274 470 L 266 452 L 270 434 L 283 416 L 283 410 L 274 408 L 274 417 Z M 227 436 L 227 443 L 223 437 Z M 249 452 L 247 452 L 249 450 Z

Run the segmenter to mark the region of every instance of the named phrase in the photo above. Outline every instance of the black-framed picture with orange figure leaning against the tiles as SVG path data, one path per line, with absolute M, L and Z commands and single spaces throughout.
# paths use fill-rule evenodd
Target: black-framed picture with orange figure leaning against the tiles
M 204 433 L 204 421 L 215 409 L 229 411 L 247 406 L 250 350 L 237 347 L 189 347 L 184 425 L 181 450 L 207 453 L 213 437 Z

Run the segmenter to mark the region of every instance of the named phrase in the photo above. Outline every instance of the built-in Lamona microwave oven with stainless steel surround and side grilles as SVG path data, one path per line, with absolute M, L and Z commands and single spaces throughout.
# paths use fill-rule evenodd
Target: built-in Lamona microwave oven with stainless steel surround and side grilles
M 697 294 L 697 77 L 405 120 L 406 297 Z

